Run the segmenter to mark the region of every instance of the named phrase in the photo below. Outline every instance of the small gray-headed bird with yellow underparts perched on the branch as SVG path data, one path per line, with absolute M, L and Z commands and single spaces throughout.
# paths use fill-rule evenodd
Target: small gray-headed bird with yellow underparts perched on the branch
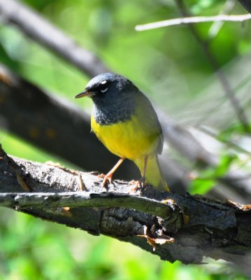
M 103 175 L 102 186 L 112 183 L 116 169 L 129 159 L 141 172 L 141 179 L 134 181 L 134 190 L 149 183 L 158 190 L 169 191 L 158 160 L 164 142 L 162 127 L 148 97 L 117 73 L 95 76 L 75 98 L 80 97 L 90 97 L 94 103 L 91 131 L 108 151 L 120 157 Z

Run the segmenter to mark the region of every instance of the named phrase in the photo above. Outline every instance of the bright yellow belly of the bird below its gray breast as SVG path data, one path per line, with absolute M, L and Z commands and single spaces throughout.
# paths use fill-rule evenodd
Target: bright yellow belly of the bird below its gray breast
M 133 116 L 124 123 L 99 125 L 92 116 L 92 131 L 111 153 L 135 160 L 157 153 L 159 134 Z

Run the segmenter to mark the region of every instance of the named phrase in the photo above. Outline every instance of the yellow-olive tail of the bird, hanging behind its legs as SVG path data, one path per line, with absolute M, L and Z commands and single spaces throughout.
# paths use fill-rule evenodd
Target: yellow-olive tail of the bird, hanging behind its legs
M 141 175 L 143 176 L 144 159 L 136 159 L 134 160 L 134 162 L 137 165 L 138 169 L 140 169 Z M 150 183 L 158 190 L 170 191 L 166 181 L 163 178 L 162 170 L 159 167 L 159 160 L 157 155 L 152 155 L 148 158 L 148 163 L 145 171 L 145 181 L 147 183 Z

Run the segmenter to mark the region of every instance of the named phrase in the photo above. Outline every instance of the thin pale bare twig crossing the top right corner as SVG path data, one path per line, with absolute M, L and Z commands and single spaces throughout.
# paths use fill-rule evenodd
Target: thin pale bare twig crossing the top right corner
M 150 22 L 146 25 L 136 25 L 136 31 L 145 31 L 149 29 L 156 29 L 161 27 L 169 27 L 172 25 L 184 25 L 189 23 L 203 23 L 203 22 L 243 22 L 251 20 L 250 14 L 245 15 L 212 15 L 208 17 L 185 17 L 173 18 L 171 20 L 162 20 L 160 22 Z

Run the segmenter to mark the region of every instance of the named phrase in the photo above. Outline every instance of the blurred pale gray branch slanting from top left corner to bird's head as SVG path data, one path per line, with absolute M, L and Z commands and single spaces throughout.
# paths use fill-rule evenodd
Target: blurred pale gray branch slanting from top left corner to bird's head
M 20 31 L 41 43 L 49 50 L 77 66 L 89 76 L 107 72 L 108 68 L 98 57 L 81 48 L 57 27 L 42 18 L 38 13 L 15 0 L 0 0 L 1 21 L 15 25 Z

